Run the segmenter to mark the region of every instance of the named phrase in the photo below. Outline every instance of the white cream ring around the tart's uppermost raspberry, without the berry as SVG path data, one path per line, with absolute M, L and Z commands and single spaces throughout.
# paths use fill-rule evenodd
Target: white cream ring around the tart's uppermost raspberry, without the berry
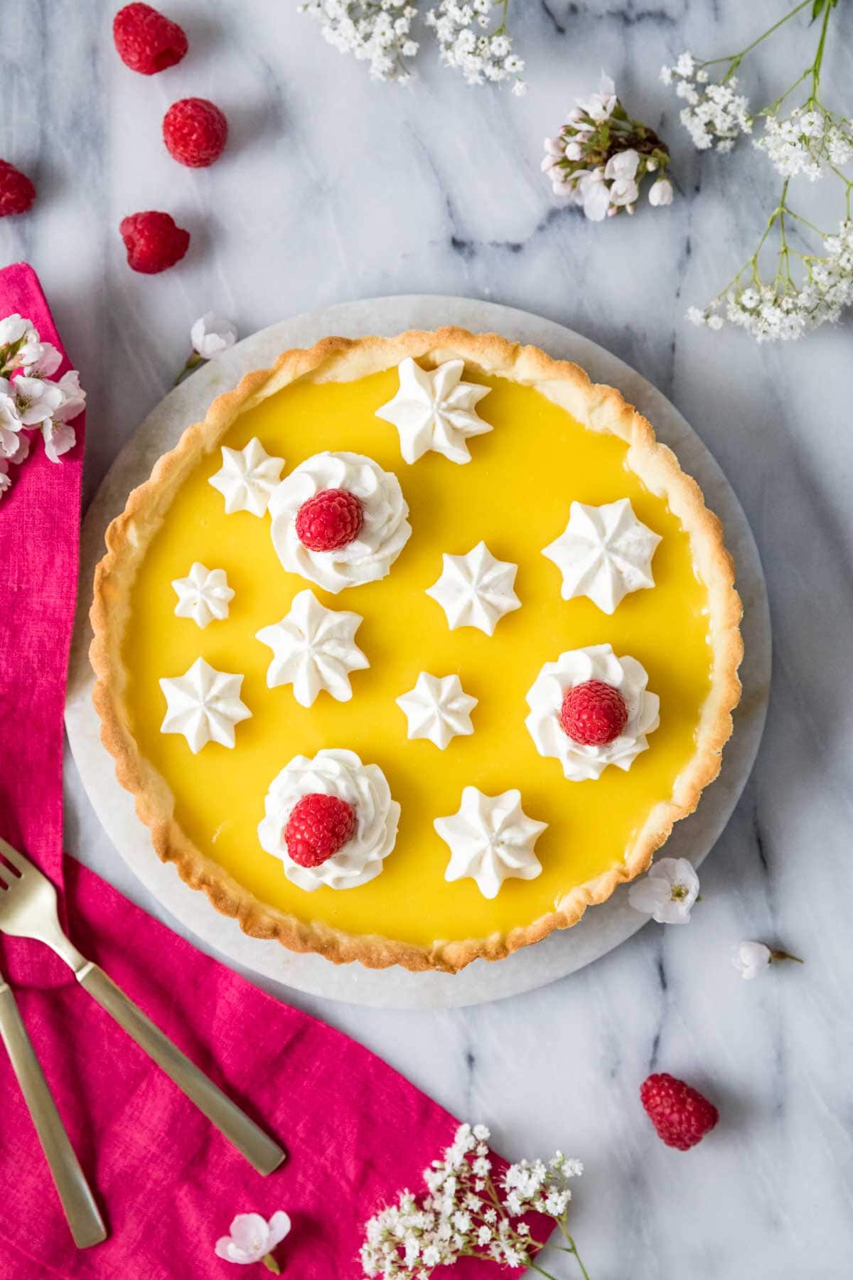
M 324 489 L 347 489 L 361 499 L 363 524 L 358 538 L 333 552 L 312 552 L 299 541 L 297 515 Z M 270 499 L 272 543 L 292 573 L 301 573 L 326 591 L 376 582 L 400 554 L 412 526 L 400 483 L 362 453 L 315 453 L 281 481 Z

